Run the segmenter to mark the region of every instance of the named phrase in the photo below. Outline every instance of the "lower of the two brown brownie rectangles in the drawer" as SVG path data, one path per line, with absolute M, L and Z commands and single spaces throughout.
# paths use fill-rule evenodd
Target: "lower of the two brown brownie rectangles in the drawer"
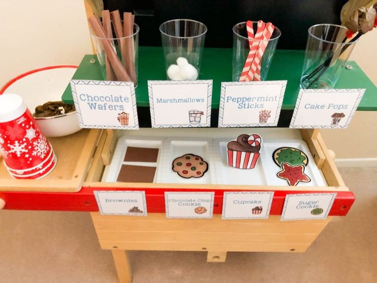
M 156 167 L 122 165 L 117 178 L 118 182 L 153 183 Z

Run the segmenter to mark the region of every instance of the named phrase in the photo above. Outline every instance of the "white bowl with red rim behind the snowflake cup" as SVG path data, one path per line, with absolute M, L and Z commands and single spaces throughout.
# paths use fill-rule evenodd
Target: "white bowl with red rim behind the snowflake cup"
M 15 93 L 24 99 L 30 112 L 35 107 L 49 101 L 61 101 L 70 79 L 77 66 L 51 66 L 29 71 L 12 79 L 4 93 Z M 45 136 L 66 136 L 81 130 L 76 111 L 53 117 L 35 118 L 36 123 Z

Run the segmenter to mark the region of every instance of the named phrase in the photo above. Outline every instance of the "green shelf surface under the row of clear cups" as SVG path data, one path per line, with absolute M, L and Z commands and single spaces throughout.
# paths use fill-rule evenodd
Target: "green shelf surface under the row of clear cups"
M 288 80 L 283 100 L 283 110 L 295 108 L 300 87 L 304 61 L 303 50 L 277 50 L 268 73 L 268 80 Z M 90 63 L 95 59 L 95 63 Z M 377 88 L 353 61 L 352 69 L 344 69 L 335 88 L 366 88 L 358 110 L 377 110 Z M 162 47 L 139 47 L 139 81 L 136 88 L 137 106 L 149 107 L 148 80 L 164 80 L 165 66 Z M 213 79 L 212 108 L 219 108 L 221 82 L 232 81 L 232 49 L 205 48 L 202 57 L 200 79 Z M 102 80 L 97 57 L 85 55 L 73 79 Z M 68 85 L 62 100 L 73 104 L 71 87 Z

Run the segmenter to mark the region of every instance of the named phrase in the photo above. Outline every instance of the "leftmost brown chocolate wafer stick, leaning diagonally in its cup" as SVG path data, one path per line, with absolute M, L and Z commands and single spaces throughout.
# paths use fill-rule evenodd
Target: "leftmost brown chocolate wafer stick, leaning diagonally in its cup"
M 118 80 L 121 82 L 131 82 L 130 76 L 128 75 L 127 71 L 125 71 L 122 63 L 120 62 L 113 46 L 110 44 L 108 39 L 106 39 L 106 34 L 104 33 L 103 27 L 99 18 L 96 15 L 91 16 L 89 19 L 89 24 L 91 25 L 94 34 L 97 37 L 102 38 L 102 45 L 104 52 L 106 52 L 111 66 L 113 67 L 114 73 Z

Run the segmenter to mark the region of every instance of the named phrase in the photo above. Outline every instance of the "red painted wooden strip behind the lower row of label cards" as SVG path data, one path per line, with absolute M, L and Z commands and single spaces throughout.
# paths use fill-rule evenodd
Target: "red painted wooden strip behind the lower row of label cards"
M 125 188 L 93 188 L 83 187 L 77 193 L 49 193 L 49 192 L 0 192 L 0 198 L 5 200 L 4 209 L 17 210 L 55 210 L 55 211 L 98 211 L 93 191 L 119 190 Z M 150 213 L 165 212 L 165 191 L 182 191 L 182 189 L 137 189 L 145 191 L 146 204 Z M 214 191 L 206 189 L 184 190 L 191 192 Z M 215 190 L 214 213 L 221 214 L 223 193 L 229 190 Z M 253 190 L 242 190 L 253 191 Z M 254 190 L 256 191 L 256 190 Z M 330 191 L 322 191 L 330 192 Z M 285 196 L 287 194 L 320 193 L 313 191 L 275 191 L 271 205 L 271 215 L 281 215 Z M 345 216 L 354 203 L 352 192 L 337 192 L 337 197 L 330 210 L 330 216 Z

